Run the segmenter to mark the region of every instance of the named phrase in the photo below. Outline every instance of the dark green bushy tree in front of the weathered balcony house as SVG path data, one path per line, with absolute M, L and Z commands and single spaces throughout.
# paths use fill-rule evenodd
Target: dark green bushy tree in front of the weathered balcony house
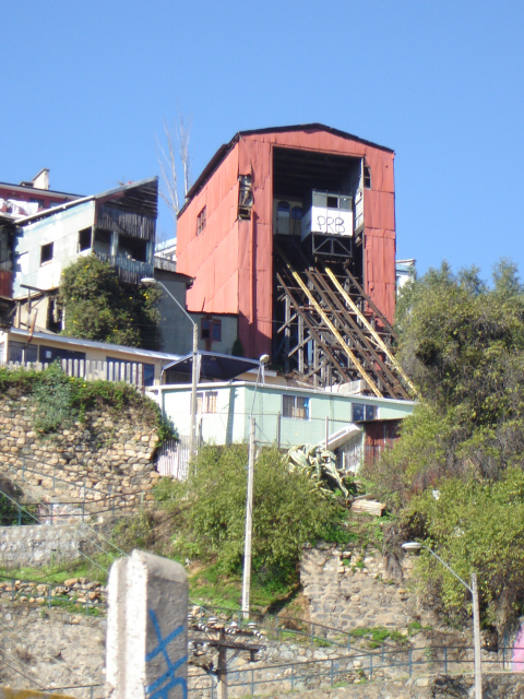
M 131 347 L 159 346 L 160 292 L 123 284 L 96 256 L 83 257 L 62 272 L 63 334 Z

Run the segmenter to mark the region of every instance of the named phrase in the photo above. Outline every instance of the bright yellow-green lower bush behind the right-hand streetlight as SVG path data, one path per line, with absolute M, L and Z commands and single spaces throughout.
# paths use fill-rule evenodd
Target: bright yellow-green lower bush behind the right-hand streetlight
M 499 631 L 524 605 L 524 472 L 513 467 L 496 483 L 458 478 L 443 481 L 438 498 L 430 490 L 415 498 L 404 513 L 412 534 L 468 581 L 478 574 L 481 616 Z M 471 603 L 464 587 L 425 554 L 418 564 L 427 595 L 433 591 L 446 612 Z

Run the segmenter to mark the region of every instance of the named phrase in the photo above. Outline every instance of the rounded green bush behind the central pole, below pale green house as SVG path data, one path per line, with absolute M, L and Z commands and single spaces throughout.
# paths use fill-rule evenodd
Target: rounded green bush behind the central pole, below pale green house
M 187 489 L 177 546 L 181 554 L 215 560 L 238 571 L 243 555 L 248 449 L 245 445 L 204 447 Z M 166 496 L 168 497 L 168 496 Z M 182 509 L 182 508 L 181 508 Z M 311 488 L 302 473 L 290 473 L 277 450 L 262 450 L 254 466 L 253 569 L 255 576 L 288 579 L 302 546 L 332 536 L 341 510 Z

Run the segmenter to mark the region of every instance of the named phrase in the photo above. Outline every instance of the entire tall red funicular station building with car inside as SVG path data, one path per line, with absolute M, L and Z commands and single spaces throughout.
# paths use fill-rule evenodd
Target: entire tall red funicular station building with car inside
M 237 315 L 246 356 L 267 353 L 303 376 L 323 370 L 321 383 L 361 378 L 346 372 L 350 360 L 325 362 L 333 342 L 310 324 L 306 307 L 318 301 L 322 317 L 327 308 L 329 335 L 335 299 L 319 291 L 312 300 L 297 275 L 314 294 L 308 270 L 322 268 L 327 279 L 329 266 L 360 310 L 374 313 L 373 328 L 388 327 L 395 308 L 393 161 L 391 149 L 320 123 L 237 133 L 178 217 L 177 269 L 194 279 L 189 310 L 212 320 Z

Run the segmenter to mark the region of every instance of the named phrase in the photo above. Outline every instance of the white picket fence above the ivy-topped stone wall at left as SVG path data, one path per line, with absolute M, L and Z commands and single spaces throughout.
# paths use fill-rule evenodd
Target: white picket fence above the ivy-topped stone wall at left
M 136 387 L 144 388 L 144 367 L 142 364 L 131 362 L 102 362 L 93 359 L 61 359 L 62 371 L 68 376 L 84 379 L 85 381 L 123 381 Z M 41 371 L 47 369 L 49 364 L 41 362 L 7 362 L 4 367 L 9 369 L 35 369 Z

